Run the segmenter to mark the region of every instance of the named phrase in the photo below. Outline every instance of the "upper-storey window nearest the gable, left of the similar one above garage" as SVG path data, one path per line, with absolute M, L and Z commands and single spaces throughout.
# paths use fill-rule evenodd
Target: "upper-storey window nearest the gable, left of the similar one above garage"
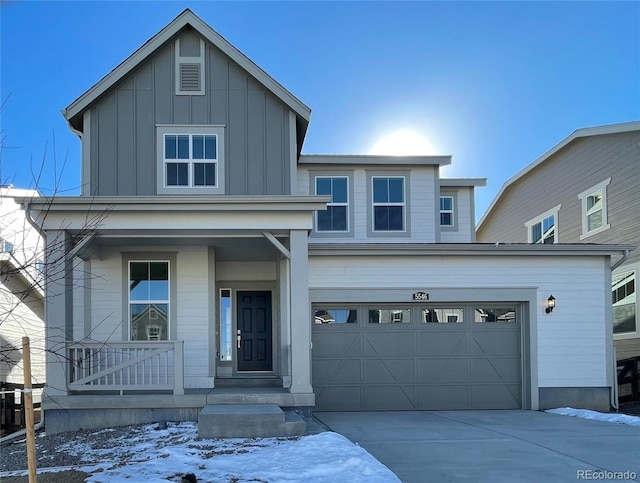
M 316 231 L 349 231 L 349 178 L 317 176 L 316 195 L 329 195 L 327 209 L 316 213 Z

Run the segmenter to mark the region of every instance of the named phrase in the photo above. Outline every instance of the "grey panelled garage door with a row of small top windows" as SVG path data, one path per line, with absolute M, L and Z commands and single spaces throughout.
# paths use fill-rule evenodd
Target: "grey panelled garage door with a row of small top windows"
M 521 307 L 314 305 L 316 410 L 522 407 Z

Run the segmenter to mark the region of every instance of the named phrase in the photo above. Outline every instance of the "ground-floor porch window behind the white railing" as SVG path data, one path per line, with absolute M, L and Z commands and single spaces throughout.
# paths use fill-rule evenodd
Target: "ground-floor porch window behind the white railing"
M 131 340 L 169 339 L 169 262 L 129 262 Z

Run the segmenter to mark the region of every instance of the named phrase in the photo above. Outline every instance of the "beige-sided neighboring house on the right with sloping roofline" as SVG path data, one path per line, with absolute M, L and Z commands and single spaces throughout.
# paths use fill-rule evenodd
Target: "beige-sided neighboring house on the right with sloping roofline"
M 640 122 L 575 131 L 504 184 L 477 237 L 640 246 Z M 612 264 L 613 339 L 621 360 L 640 356 L 640 250 Z

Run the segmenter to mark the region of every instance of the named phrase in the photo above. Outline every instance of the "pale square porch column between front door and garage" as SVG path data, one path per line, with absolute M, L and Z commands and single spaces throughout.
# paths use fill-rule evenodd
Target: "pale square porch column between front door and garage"
M 312 393 L 311 313 L 309 310 L 309 251 L 307 230 L 291 230 L 291 388 L 293 393 Z

